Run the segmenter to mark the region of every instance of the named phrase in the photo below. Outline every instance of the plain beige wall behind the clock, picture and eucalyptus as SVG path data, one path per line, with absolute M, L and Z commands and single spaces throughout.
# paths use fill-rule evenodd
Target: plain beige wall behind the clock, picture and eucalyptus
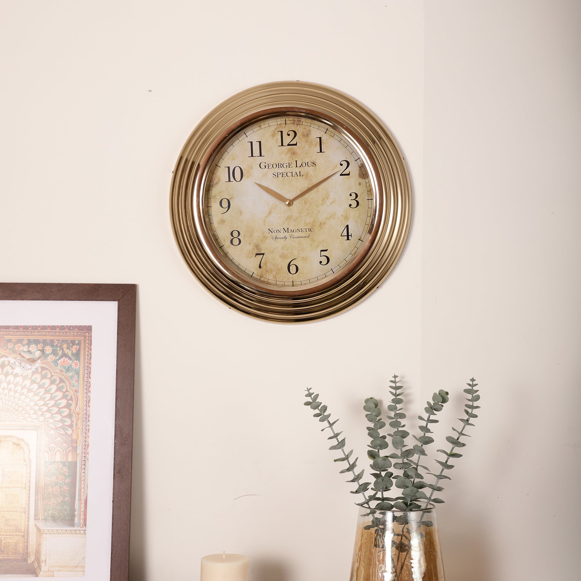
M 472 374 L 483 389 L 439 509 L 449 581 L 574 578 L 580 16 L 564 1 L 2 4 L 1 278 L 139 285 L 133 581 L 198 579 L 223 550 L 250 556 L 252 581 L 346 579 L 356 508 L 302 391 L 363 455 L 361 400 L 393 372 L 412 416 Z M 374 110 L 414 187 L 388 280 L 298 327 L 214 300 L 168 218 L 196 123 L 281 79 Z

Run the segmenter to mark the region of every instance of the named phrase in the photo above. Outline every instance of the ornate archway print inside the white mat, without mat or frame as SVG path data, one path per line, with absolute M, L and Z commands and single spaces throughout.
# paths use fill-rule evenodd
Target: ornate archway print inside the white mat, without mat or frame
M 0 326 L 0 578 L 85 574 L 91 332 Z

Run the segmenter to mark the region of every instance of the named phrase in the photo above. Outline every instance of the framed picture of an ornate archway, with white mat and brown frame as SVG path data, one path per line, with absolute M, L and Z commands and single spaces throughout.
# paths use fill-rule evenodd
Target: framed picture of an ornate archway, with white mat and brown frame
M 2 579 L 128 579 L 136 289 L 0 284 Z

